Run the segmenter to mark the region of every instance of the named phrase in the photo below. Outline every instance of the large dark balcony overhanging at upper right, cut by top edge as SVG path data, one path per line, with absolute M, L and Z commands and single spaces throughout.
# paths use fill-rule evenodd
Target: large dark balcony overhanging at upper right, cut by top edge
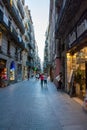
M 58 37 L 66 32 L 66 28 L 68 31 L 69 23 L 74 18 L 81 2 L 81 0 L 65 0 L 65 3 L 62 4 L 56 23 L 56 35 Z

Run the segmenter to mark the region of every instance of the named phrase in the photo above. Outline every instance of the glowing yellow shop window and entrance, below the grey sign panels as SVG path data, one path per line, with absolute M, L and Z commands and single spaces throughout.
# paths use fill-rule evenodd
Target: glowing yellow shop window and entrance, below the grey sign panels
M 68 91 L 75 96 L 84 98 L 86 95 L 87 79 L 87 47 L 67 53 L 67 82 Z

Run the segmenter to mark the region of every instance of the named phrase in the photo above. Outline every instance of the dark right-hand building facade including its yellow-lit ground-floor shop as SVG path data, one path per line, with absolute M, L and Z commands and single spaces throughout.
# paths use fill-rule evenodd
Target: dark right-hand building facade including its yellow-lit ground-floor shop
M 63 73 L 65 90 L 69 94 L 75 90 L 76 96 L 84 98 L 87 89 L 87 1 L 55 0 L 53 2 L 55 3 L 53 45 L 56 46 L 57 56 L 57 64 L 54 68 L 57 67 L 57 73 L 59 71 Z

